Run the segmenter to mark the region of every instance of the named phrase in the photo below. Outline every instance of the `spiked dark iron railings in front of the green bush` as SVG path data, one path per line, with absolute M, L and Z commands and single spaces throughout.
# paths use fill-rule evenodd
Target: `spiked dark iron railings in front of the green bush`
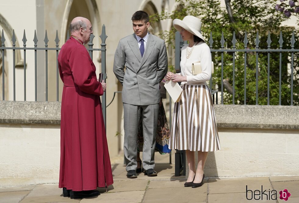
M 221 104 L 227 103 L 227 104 L 256 104 L 256 105 L 259 104 L 286 105 L 287 103 L 289 105 L 298 105 L 299 69 L 298 69 L 298 63 L 296 62 L 299 57 L 299 49 L 298 49 L 298 45 L 297 45 L 297 49 L 295 49 L 295 42 L 296 42 L 295 33 L 293 32 L 290 42 L 287 42 L 290 44 L 290 49 L 283 49 L 283 45 L 286 42 L 283 41 L 282 32 L 280 32 L 279 35 L 279 40 L 278 40 L 279 47 L 277 47 L 277 49 L 271 48 L 272 41 L 271 41 L 270 33 L 268 33 L 268 39 L 266 41 L 267 49 L 261 49 L 261 47 L 259 46 L 260 42 L 261 41 L 259 39 L 259 34 L 257 32 L 256 39 L 255 39 L 255 49 L 250 49 L 248 46 L 247 33 L 245 32 L 244 41 L 242 42 L 244 44 L 243 49 L 237 49 L 235 32 L 233 32 L 232 41 L 231 43 L 229 42 L 229 44 L 232 45 L 232 48 L 225 48 L 225 39 L 222 33 L 221 40 L 220 40 L 221 48 L 215 49 L 213 47 L 214 41 L 211 32 L 208 44 L 211 49 L 211 56 L 212 56 L 212 60 L 214 61 L 214 68 L 215 68 L 215 72 L 212 75 L 209 83 L 212 92 L 216 94 L 216 97 L 218 93 L 221 93 Z M 263 43 L 265 45 L 265 42 Z M 182 41 L 179 32 L 176 32 L 176 36 L 175 36 L 176 72 L 180 72 L 180 65 L 179 65 L 180 49 L 182 48 L 183 45 L 184 42 Z M 240 44 L 238 45 L 238 48 L 240 48 Z M 278 54 L 279 54 L 279 58 L 277 57 Z M 226 55 L 225 59 L 224 59 L 224 55 Z M 250 56 L 250 60 L 248 60 L 249 56 Z M 253 65 L 254 63 L 253 59 L 255 60 L 255 67 Z M 227 68 L 225 69 L 227 72 L 224 72 L 224 66 L 228 67 L 228 69 Z M 267 77 L 266 85 L 263 84 L 264 81 L 259 81 L 261 80 L 259 79 L 261 78 L 261 72 L 262 72 L 261 68 L 265 66 L 267 66 L 267 70 L 265 71 Z M 275 81 L 274 82 L 272 81 L 272 78 L 274 78 L 275 76 L 273 75 L 273 72 L 275 72 L 277 69 L 279 69 L 277 73 L 277 77 L 279 77 L 279 79 L 277 81 L 278 84 L 276 85 Z M 248 75 L 247 73 L 247 71 L 249 70 L 251 71 L 250 72 L 251 74 L 252 71 L 254 71 L 255 74 L 255 90 L 251 91 L 250 98 L 248 98 L 248 89 L 252 88 L 253 82 L 251 81 L 252 77 L 251 78 L 249 77 L 251 75 Z M 240 76 L 241 75 L 240 73 L 242 73 L 243 82 L 242 84 L 240 84 L 240 80 L 238 80 L 239 92 L 238 92 L 238 97 L 236 97 L 236 84 L 235 84 L 236 75 Z M 224 79 L 224 75 L 229 75 L 231 78 Z M 286 75 L 288 76 L 288 78 L 282 81 L 282 76 L 286 76 Z M 250 84 L 247 83 L 249 80 L 250 80 Z M 226 83 L 226 87 L 225 87 L 226 92 L 224 92 L 224 82 Z M 285 96 L 288 101 L 284 102 L 284 104 L 282 104 L 282 82 L 283 82 L 284 90 L 287 87 L 288 88 L 287 91 L 289 94 L 289 96 Z M 278 87 L 278 91 L 277 91 L 278 102 L 270 103 L 270 99 L 276 96 L 274 92 L 275 89 L 271 88 L 271 85 L 272 86 L 276 85 Z M 243 87 L 242 90 L 243 97 L 241 97 L 240 95 L 241 86 Z M 266 88 L 264 86 L 266 86 Z M 295 92 L 294 92 L 294 88 L 296 89 Z M 253 91 L 255 93 L 255 103 L 252 102 Z M 261 94 L 259 94 L 260 93 L 259 91 L 261 92 Z M 224 102 L 225 97 L 226 97 L 226 101 Z M 229 99 L 227 99 L 228 97 Z M 262 97 L 267 98 L 266 102 L 259 101 L 259 98 L 261 100 Z M 248 103 L 249 101 L 251 101 L 251 103 Z

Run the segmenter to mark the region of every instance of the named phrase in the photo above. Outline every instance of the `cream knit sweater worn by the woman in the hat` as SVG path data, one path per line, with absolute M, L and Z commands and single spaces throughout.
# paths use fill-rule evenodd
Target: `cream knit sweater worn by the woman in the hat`
M 212 75 L 212 59 L 209 46 L 204 42 L 199 42 L 194 46 L 189 59 L 186 58 L 186 49 L 188 45 L 182 47 L 181 52 L 181 73 L 187 76 L 187 82 L 181 84 L 186 85 L 207 85 L 206 81 L 210 80 Z M 192 75 L 192 63 L 200 62 L 202 72 L 198 75 Z

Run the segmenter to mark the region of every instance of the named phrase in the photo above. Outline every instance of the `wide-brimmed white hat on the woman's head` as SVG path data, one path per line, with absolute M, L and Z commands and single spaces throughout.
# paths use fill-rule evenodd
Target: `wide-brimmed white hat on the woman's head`
M 199 18 L 195 16 L 185 16 L 183 20 L 173 20 L 172 24 L 177 31 L 180 32 L 182 28 L 184 28 L 186 31 L 204 40 L 204 37 L 201 34 L 201 21 Z

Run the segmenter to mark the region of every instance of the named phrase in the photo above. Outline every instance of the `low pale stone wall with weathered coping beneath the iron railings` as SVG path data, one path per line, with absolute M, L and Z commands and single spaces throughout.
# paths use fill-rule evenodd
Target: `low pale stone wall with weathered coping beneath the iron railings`
M 0 186 L 58 182 L 60 105 L 0 102 Z M 209 153 L 207 176 L 298 175 L 299 107 L 214 107 L 221 150 Z

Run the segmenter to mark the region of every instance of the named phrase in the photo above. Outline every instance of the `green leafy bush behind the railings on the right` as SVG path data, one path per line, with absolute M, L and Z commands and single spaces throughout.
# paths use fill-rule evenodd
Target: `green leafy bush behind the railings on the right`
M 228 0 L 226 0 L 228 2 Z M 292 29 L 281 27 L 281 23 L 286 20 L 283 13 L 276 12 L 276 0 L 231 0 L 231 13 L 225 7 L 220 6 L 219 0 L 176 0 L 179 4 L 177 10 L 173 13 L 162 11 L 160 14 L 150 16 L 152 21 L 164 19 L 183 19 L 186 15 L 198 16 L 202 20 L 201 33 L 206 42 L 212 32 L 213 49 L 221 49 L 221 34 L 224 35 L 224 49 L 232 49 L 232 35 L 236 33 L 236 49 L 244 49 L 245 31 L 247 31 L 247 61 L 246 61 L 246 103 L 255 104 L 256 102 L 256 53 L 255 41 L 257 31 L 259 34 L 259 49 L 268 49 L 267 39 L 268 32 L 271 37 L 270 49 L 279 49 L 279 34 L 282 31 L 283 49 L 291 49 Z M 229 19 L 232 16 L 233 21 Z M 175 29 L 163 31 L 160 33 L 161 38 L 167 45 L 174 49 Z M 298 34 L 295 32 L 294 49 L 299 49 Z M 251 50 L 250 50 L 251 49 Z M 282 86 L 281 86 L 281 104 L 290 105 L 290 78 L 294 77 L 294 105 L 299 104 L 297 93 L 299 92 L 299 53 L 294 53 L 294 74 L 290 75 L 290 52 L 282 53 Z M 212 60 L 214 61 L 215 72 L 213 77 L 213 89 L 221 92 L 221 52 L 213 52 Z M 174 60 L 173 60 L 174 61 Z M 224 80 L 228 80 L 232 86 L 232 53 L 225 52 L 223 55 L 223 73 Z M 244 103 L 244 52 L 236 52 L 235 60 L 235 101 Z M 170 67 L 173 68 L 173 64 Z M 290 67 L 290 65 L 289 65 Z M 267 77 L 268 77 L 268 53 L 260 52 L 258 54 L 258 104 L 267 105 Z M 279 52 L 270 54 L 270 105 L 279 103 Z M 228 87 L 229 88 L 229 87 Z M 224 103 L 232 103 L 232 94 L 224 87 Z M 219 95 L 218 95 L 219 96 Z

